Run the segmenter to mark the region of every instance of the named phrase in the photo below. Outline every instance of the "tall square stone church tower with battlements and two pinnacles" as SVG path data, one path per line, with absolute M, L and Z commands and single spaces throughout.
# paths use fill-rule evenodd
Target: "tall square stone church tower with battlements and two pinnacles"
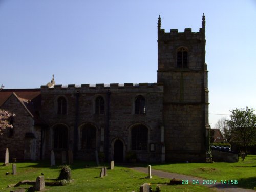
M 157 82 L 163 83 L 165 159 L 205 161 L 208 151 L 208 86 L 205 16 L 199 32 L 161 29 L 158 18 Z

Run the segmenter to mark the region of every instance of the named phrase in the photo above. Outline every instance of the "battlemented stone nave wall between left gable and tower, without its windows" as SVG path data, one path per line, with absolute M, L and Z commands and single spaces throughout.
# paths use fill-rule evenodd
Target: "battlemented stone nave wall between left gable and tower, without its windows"
M 81 85 L 68 87 L 55 86 L 47 88 L 42 86 L 42 118 L 50 125 L 46 138 L 46 157 L 49 157 L 49 150 L 53 148 L 53 128 L 56 124 L 63 124 L 69 129 L 69 148 L 74 148 L 74 130 L 76 126 L 76 98 L 79 92 L 78 102 L 78 153 L 80 159 L 92 160 L 95 156 L 92 150 L 81 150 L 79 127 L 90 123 L 96 127 L 96 149 L 104 151 L 108 147 L 108 158 L 114 157 L 114 142 L 119 139 L 124 145 L 124 160 L 127 151 L 131 151 L 131 128 L 134 125 L 142 124 L 148 129 L 148 147 L 146 151 L 136 151 L 140 161 L 161 161 L 161 131 L 163 123 L 163 86 L 157 83 L 125 83 L 119 84 L 96 84 L 96 86 Z M 108 113 L 109 96 L 109 115 Z M 146 100 L 146 114 L 135 114 L 135 98 L 142 95 Z M 56 100 L 63 96 L 67 100 L 67 115 L 56 113 Z M 105 104 L 104 114 L 95 114 L 95 99 L 102 96 Z M 109 117 L 109 121 L 108 118 Z M 109 132 L 106 133 L 106 129 Z M 103 134 L 103 137 L 102 137 Z M 155 144 L 155 151 L 150 152 L 149 144 Z M 106 146 L 107 145 L 107 146 Z

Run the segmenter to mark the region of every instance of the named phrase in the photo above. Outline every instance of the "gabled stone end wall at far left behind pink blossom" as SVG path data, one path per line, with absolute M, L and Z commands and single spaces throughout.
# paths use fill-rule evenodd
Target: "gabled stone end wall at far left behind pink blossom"
M 40 127 L 34 126 L 34 120 L 16 96 L 10 98 L 1 106 L 2 109 L 14 113 L 14 134 L 9 136 L 9 129 L 0 135 L 0 158 L 4 159 L 6 147 L 9 149 L 10 162 L 12 158 L 32 159 L 40 158 Z M 26 133 L 33 133 L 34 138 L 26 137 Z

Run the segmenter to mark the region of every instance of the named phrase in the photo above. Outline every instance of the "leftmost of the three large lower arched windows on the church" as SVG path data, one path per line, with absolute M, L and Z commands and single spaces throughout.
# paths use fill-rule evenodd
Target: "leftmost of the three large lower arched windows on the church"
M 68 129 L 64 125 L 57 125 L 54 128 L 54 148 L 67 148 Z

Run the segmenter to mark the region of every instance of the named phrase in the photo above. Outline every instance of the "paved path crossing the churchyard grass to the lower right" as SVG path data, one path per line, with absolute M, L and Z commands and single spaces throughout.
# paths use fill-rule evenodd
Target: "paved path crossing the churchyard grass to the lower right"
M 131 169 L 138 170 L 139 172 L 148 173 L 148 168 L 144 168 L 144 167 L 132 167 Z M 169 179 L 175 178 L 175 179 L 180 179 L 180 180 L 188 180 L 189 183 L 192 183 L 192 180 L 198 180 L 199 184 L 201 184 L 201 185 L 203 185 L 203 180 L 204 180 L 203 178 L 199 178 L 199 177 L 163 172 L 161 170 L 154 170 L 154 169 L 151 170 L 151 173 L 152 173 L 152 177 L 154 175 L 156 175 L 156 176 L 162 177 L 162 178 L 169 178 Z M 232 191 L 232 192 L 254 191 L 255 192 L 255 190 L 238 188 L 238 187 L 236 187 L 236 185 L 228 185 L 228 184 L 225 185 L 225 184 L 221 184 L 220 182 L 216 182 L 215 184 L 212 184 L 212 185 L 209 184 L 209 185 L 203 185 L 203 186 L 207 186 L 210 188 L 216 188 L 218 191 Z

